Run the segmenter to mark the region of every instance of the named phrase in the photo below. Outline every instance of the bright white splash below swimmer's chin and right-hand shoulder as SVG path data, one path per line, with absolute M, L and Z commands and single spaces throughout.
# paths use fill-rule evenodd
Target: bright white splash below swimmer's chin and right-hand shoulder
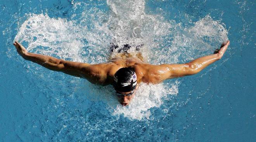
M 172 86 L 178 86 L 178 83 L 172 84 Z M 177 93 L 178 90 L 169 90 L 168 86 L 163 84 L 147 85 L 143 83 L 130 105 L 128 107 L 118 105 L 114 108 L 113 114 L 123 114 L 125 117 L 138 120 L 149 119 L 151 115 L 150 108 L 160 107 L 167 95 L 176 95 Z

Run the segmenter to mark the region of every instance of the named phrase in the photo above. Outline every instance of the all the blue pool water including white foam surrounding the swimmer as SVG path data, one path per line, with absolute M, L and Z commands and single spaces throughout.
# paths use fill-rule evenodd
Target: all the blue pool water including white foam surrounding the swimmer
M 253 0 L 0 0 L 0 141 L 255 142 Z M 201 73 L 141 84 L 127 107 L 112 86 L 49 71 L 12 45 L 102 63 L 109 43 L 144 43 L 152 64 L 230 46 Z

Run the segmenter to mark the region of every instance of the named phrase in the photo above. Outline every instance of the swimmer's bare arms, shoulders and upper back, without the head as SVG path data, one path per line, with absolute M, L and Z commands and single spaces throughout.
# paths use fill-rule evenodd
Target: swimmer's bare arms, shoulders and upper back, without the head
M 200 57 L 189 63 L 184 64 L 160 64 L 152 65 L 141 61 L 138 58 L 114 58 L 107 63 L 87 64 L 79 62 L 65 61 L 51 56 L 27 52 L 26 49 L 17 41 L 14 46 L 17 52 L 26 60 L 35 62 L 53 71 L 85 78 L 91 83 L 98 85 L 112 84 L 113 76 L 120 68 L 133 68 L 137 74 L 137 82 L 160 83 L 166 79 L 178 78 L 199 73 L 209 64 L 221 59 L 226 52 L 229 41 L 222 43 L 220 49 L 216 49 L 214 54 Z

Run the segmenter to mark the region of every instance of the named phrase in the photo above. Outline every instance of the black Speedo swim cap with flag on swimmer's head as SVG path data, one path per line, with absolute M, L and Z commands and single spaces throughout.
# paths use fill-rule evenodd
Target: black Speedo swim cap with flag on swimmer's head
M 135 90 L 137 75 L 131 68 L 121 68 L 114 75 L 114 88 L 120 92 Z

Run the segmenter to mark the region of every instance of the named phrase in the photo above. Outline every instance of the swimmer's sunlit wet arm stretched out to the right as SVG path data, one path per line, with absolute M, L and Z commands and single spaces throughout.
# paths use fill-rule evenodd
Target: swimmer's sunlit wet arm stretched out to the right
M 161 64 L 151 70 L 159 74 L 157 79 L 159 82 L 165 79 L 177 78 L 199 73 L 202 69 L 206 68 L 209 64 L 214 63 L 221 59 L 226 52 L 229 41 L 222 43 L 220 49 L 216 49 L 214 54 L 209 56 L 200 57 L 189 63 L 185 64 Z

